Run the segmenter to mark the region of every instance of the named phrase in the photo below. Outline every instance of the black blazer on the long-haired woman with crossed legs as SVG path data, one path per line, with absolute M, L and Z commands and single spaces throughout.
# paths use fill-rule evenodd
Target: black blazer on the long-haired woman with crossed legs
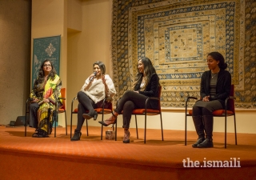
M 147 97 L 157 97 L 158 96 L 158 86 L 159 86 L 159 78 L 158 74 L 152 74 L 150 81 L 146 85 L 145 90 L 140 91 L 140 86 L 142 83 L 142 79 L 138 81 L 138 83 L 134 86 L 134 90 L 138 90 L 139 94 L 143 94 Z M 150 106 L 153 109 L 158 109 L 158 101 L 157 100 L 150 100 Z

